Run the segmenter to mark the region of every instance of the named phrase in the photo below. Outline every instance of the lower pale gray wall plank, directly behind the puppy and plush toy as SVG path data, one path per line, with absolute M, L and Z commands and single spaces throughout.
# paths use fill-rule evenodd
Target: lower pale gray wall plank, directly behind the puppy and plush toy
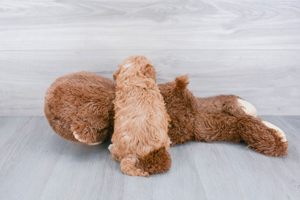
M 157 82 L 189 74 L 197 97 L 235 94 L 258 115 L 300 115 L 300 50 L 82 50 L 0 52 L 0 115 L 44 115 L 44 94 L 81 70 L 112 79 L 129 55 L 144 55 Z

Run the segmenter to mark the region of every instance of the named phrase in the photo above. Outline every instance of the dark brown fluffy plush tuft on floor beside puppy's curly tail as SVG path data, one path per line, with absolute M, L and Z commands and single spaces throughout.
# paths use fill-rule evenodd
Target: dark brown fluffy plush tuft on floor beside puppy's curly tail
M 152 151 L 138 163 L 138 168 L 149 174 L 165 173 L 171 168 L 171 155 L 164 147 Z

